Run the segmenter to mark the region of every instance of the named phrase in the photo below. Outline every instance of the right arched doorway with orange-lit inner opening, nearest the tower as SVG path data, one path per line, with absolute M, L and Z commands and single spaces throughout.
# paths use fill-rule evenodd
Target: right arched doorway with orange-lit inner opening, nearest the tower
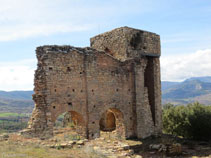
M 106 110 L 100 119 L 100 135 L 107 137 L 112 133 L 114 137 L 125 137 L 123 114 L 116 108 Z

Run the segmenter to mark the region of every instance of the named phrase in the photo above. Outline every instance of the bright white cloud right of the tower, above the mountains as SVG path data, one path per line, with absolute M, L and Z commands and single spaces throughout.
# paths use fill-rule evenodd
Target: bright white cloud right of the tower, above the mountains
M 182 81 L 196 76 L 211 76 L 211 49 L 161 57 L 161 80 Z

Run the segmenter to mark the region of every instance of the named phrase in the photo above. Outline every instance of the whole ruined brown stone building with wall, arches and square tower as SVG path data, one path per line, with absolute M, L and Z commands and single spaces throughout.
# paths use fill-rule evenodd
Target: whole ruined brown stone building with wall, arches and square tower
M 35 108 L 23 133 L 52 136 L 64 112 L 89 139 L 100 137 L 103 129 L 125 138 L 161 133 L 159 35 L 121 27 L 90 42 L 87 48 L 36 49 Z

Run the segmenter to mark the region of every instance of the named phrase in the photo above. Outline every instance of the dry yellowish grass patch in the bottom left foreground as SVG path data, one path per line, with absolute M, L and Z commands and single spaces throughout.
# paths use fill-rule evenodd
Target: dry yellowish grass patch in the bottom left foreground
M 99 158 L 91 148 L 51 149 L 37 144 L 0 143 L 0 158 Z M 102 157 L 103 158 L 103 157 Z

